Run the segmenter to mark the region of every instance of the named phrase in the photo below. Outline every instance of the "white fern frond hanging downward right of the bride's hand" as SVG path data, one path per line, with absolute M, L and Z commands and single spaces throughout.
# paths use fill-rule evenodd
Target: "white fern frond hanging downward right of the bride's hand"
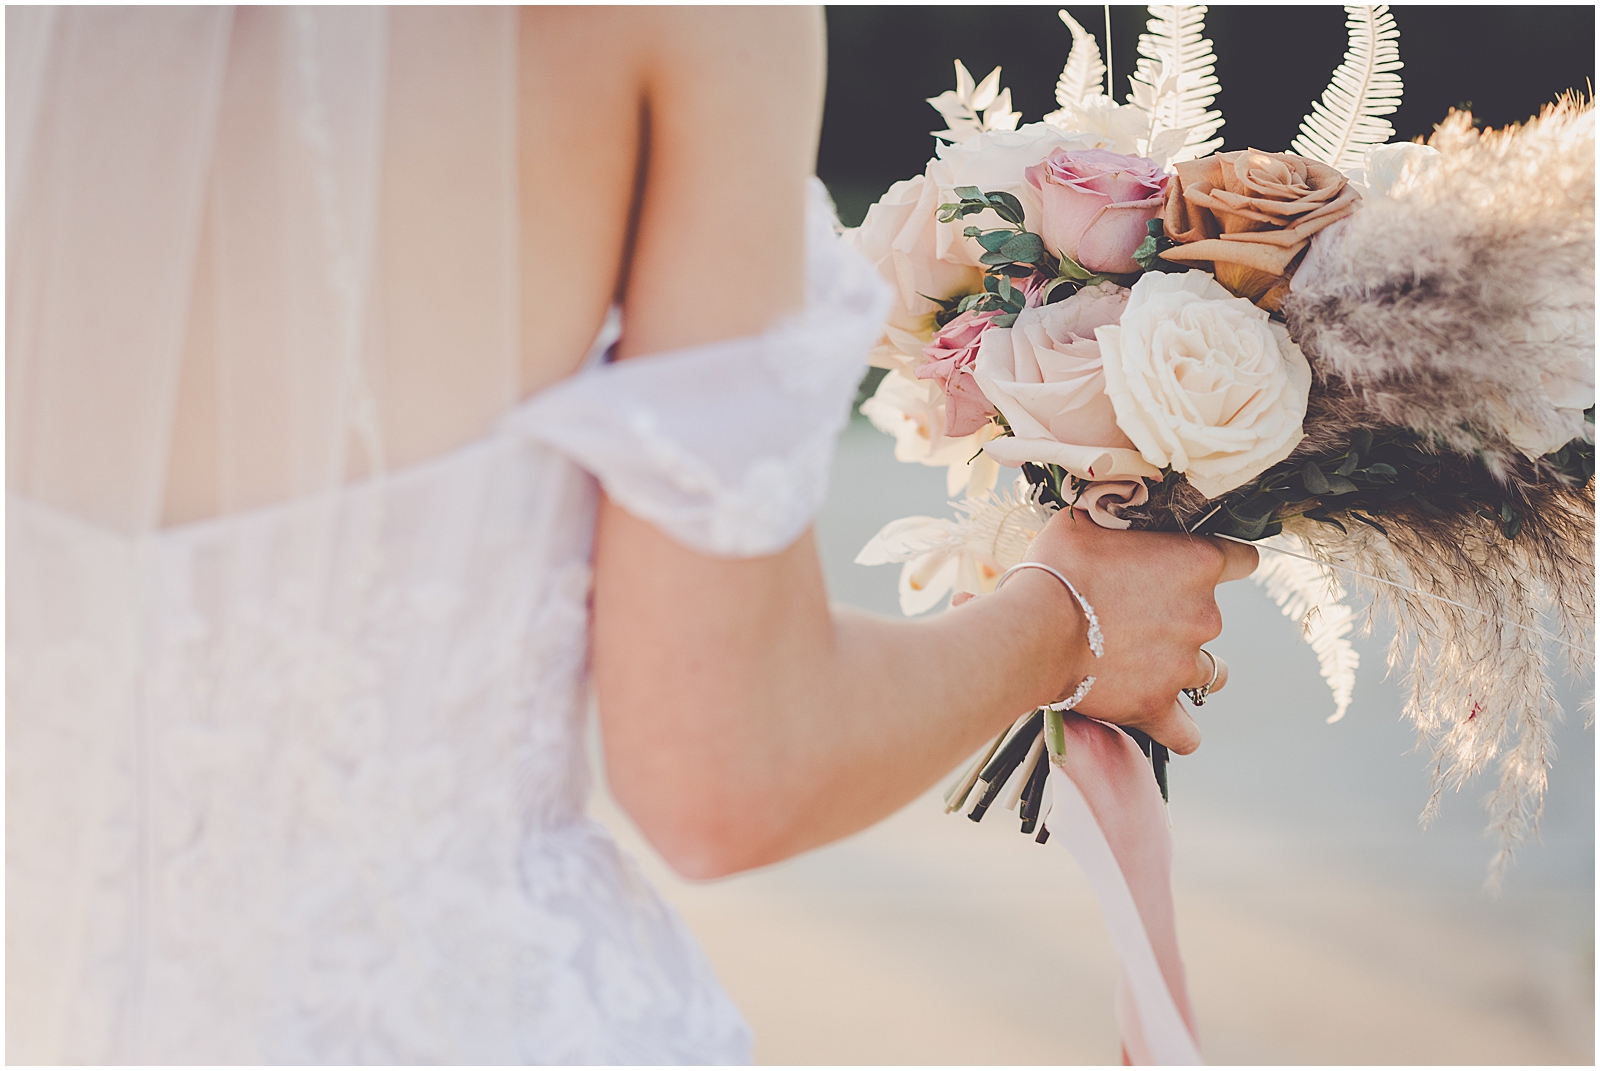
M 1355 671 L 1362 656 L 1350 645 L 1355 612 L 1344 602 L 1344 586 L 1333 570 L 1309 560 L 1307 548 L 1293 536 L 1277 535 L 1261 540 L 1261 565 L 1250 575 L 1266 588 L 1283 616 L 1301 626 L 1301 636 L 1317 655 L 1322 679 L 1333 692 L 1333 714 L 1328 724 L 1344 717 L 1355 693 Z

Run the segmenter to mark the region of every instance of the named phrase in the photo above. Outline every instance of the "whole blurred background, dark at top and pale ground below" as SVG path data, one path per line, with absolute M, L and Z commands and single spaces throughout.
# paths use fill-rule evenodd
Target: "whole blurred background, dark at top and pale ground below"
M 1104 46 L 1102 8 L 1069 6 Z M 1517 122 L 1594 75 L 1592 6 L 1394 8 L 1400 138 L 1472 102 Z M 1144 8 L 1112 8 L 1118 98 Z M 1282 149 L 1344 51 L 1336 6 L 1206 16 L 1224 149 Z M 1070 38 L 1054 6 L 829 8 L 819 174 L 846 223 L 922 170 L 939 126 L 923 98 L 1003 64 L 1034 122 Z M 944 471 L 893 459 L 859 416 L 840 440 L 818 540 L 835 600 L 898 615 L 898 567 L 854 565 L 886 522 L 949 515 Z M 1342 722 L 1310 648 L 1250 581 L 1218 592 L 1232 684 L 1174 759 L 1174 895 L 1202 1049 L 1213 1063 L 1592 1065 L 1594 680 L 1568 724 L 1541 842 L 1494 897 L 1491 780 L 1421 829 L 1429 764 L 1386 679 L 1389 634 L 1357 640 Z M 762 1063 L 1117 1063 L 1115 957 L 1070 856 L 995 808 L 946 816 L 942 786 L 888 821 L 754 874 L 675 877 L 603 792 L 595 813 L 699 935 L 755 1029 Z

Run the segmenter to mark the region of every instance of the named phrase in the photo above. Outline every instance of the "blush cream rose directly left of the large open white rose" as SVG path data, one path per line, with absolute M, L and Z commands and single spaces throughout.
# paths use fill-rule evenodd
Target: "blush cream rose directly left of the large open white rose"
M 1115 323 L 1126 304 L 1126 290 L 1099 283 L 984 333 L 973 378 L 1011 426 L 1010 437 L 984 443 L 989 456 L 1059 464 L 1082 480 L 1160 479 L 1117 427 L 1101 373 L 1094 330 Z

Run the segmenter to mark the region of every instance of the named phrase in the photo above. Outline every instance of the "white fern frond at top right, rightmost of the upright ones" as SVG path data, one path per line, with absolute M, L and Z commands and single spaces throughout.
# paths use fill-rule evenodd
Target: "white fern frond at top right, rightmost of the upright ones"
M 1341 171 L 1362 166 L 1366 149 L 1395 134 L 1384 115 L 1400 107 L 1400 29 L 1389 5 L 1346 6 L 1350 45 L 1322 99 L 1301 120 L 1290 149 Z

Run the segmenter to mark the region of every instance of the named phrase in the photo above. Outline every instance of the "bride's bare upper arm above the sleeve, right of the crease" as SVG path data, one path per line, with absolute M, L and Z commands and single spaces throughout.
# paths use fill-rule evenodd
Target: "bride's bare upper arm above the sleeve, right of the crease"
M 750 335 L 800 304 L 805 184 L 822 118 L 819 10 L 656 18 L 624 355 Z

